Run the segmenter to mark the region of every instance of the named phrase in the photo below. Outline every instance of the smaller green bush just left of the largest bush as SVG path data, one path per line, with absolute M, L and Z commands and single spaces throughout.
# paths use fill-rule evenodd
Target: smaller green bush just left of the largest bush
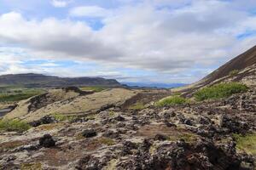
M 188 99 L 185 99 L 178 95 L 173 95 L 164 99 L 160 99 L 155 105 L 157 106 L 167 106 L 167 105 L 182 105 L 189 103 Z

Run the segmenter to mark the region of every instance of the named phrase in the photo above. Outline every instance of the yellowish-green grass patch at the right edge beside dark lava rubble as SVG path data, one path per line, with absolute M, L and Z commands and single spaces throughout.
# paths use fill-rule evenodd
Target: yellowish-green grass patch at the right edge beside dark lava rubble
M 242 136 L 241 134 L 233 134 L 236 139 L 236 149 L 256 156 L 256 133 Z

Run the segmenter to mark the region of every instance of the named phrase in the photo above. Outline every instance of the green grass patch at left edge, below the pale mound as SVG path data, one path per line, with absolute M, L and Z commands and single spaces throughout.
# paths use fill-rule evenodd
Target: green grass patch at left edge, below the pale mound
M 11 121 L 0 121 L 0 130 L 7 131 L 7 132 L 25 132 L 31 128 L 31 126 L 26 123 L 19 120 L 11 120 Z

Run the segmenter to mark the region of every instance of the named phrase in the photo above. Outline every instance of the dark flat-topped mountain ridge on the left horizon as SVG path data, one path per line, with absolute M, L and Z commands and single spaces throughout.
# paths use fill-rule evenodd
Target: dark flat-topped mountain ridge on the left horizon
M 121 87 L 114 79 L 102 77 L 52 77 L 43 74 L 15 74 L 0 76 L 0 86 L 25 86 L 27 88 L 55 88 L 67 86 Z

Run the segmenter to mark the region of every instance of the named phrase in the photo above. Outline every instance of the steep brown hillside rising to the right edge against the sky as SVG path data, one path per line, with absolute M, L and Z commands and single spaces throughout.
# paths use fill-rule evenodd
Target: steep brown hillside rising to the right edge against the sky
M 225 65 L 213 71 L 199 82 L 183 88 L 173 89 L 173 92 L 193 94 L 197 89 L 211 86 L 219 82 L 242 82 L 248 87 L 255 87 L 256 82 L 256 46 L 245 53 L 231 59 Z

